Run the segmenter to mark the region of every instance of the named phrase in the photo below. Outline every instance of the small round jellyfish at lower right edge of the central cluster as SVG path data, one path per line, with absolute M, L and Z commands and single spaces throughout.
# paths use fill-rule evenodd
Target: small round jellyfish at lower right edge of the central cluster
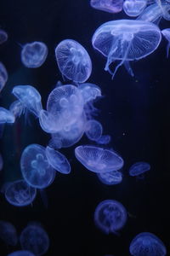
M 85 127 L 85 133 L 89 140 L 94 142 L 97 141 L 99 137 L 101 137 L 102 132 L 103 127 L 98 121 L 94 119 L 88 120 Z

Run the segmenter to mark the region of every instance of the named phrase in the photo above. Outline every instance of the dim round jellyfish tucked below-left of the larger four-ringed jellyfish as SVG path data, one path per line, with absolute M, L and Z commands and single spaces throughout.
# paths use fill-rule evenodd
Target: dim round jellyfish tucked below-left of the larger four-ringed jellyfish
M 36 195 L 36 189 L 31 188 L 24 180 L 8 183 L 5 189 L 6 200 L 15 207 L 26 207 L 30 205 Z

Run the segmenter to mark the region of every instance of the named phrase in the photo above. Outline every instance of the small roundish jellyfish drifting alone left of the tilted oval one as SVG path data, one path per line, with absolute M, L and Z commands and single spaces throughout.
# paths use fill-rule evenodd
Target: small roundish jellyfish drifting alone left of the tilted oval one
M 21 61 L 26 67 L 41 67 L 48 55 L 48 48 L 42 42 L 25 44 L 21 51 Z

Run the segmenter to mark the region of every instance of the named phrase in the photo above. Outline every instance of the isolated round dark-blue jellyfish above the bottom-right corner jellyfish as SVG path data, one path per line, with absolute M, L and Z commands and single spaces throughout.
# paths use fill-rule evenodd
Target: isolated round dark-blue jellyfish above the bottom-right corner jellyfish
M 127 210 L 115 200 L 101 201 L 94 212 L 94 223 L 105 234 L 116 234 L 127 222 Z

